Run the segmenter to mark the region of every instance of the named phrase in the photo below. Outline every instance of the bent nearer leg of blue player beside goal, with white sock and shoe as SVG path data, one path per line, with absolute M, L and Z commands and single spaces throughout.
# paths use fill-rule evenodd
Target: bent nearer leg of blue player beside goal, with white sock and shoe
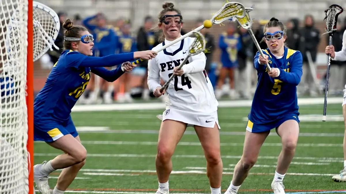
M 54 142 L 48 143 L 54 148 L 67 154 L 61 154 L 54 159 L 34 166 L 34 180 L 41 194 L 50 194 L 48 175 L 57 169 L 63 169 L 83 162 L 86 158 L 86 149 L 71 134 L 64 135 Z

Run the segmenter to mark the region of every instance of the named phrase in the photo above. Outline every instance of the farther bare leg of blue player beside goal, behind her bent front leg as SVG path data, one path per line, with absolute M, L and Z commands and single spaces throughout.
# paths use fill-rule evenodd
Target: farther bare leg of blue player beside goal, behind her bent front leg
M 79 136 L 76 139 L 81 142 Z M 65 152 L 65 154 L 67 154 Z M 53 194 L 60 194 L 63 191 L 66 191 L 67 187 L 73 182 L 74 178 L 77 176 L 79 170 L 84 166 L 85 160 L 81 163 L 75 164 L 73 166 L 64 168 L 58 177 L 58 181 L 53 190 Z

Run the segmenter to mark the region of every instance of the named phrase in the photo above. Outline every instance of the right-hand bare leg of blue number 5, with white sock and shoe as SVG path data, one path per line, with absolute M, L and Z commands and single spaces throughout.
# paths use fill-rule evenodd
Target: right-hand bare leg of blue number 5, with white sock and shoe
M 295 154 L 299 137 L 299 124 L 293 119 L 286 120 L 276 129 L 276 133 L 281 137 L 282 150 L 277 159 L 272 189 L 274 194 L 284 194 L 283 178 Z

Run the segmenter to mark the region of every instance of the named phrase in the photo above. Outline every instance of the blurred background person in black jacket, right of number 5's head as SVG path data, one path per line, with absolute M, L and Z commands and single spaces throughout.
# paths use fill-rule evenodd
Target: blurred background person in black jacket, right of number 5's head
M 303 93 L 307 92 L 308 94 L 310 94 L 310 96 L 316 96 L 317 88 L 311 74 L 308 55 L 310 54 L 312 62 L 315 63 L 317 58 L 318 44 L 320 42 L 320 32 L 315 27 L 315 21 L 313 20 L 313 17 L 311 15 L 305 16 L 304 23 L 304 27 L 300 30 L 301 36 L 299 43 L 299 51 L 303 55 L 303 75 L 301 77 L 300 83 L 303 87 Z M 313 68 L 315 68 L 315 66 Z

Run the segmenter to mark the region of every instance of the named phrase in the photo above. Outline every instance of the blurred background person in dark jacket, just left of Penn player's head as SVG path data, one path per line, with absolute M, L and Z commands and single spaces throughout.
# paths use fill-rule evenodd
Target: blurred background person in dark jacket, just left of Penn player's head
M 137 33 L 137 49 L 138 51 L 151 50 L 154 48 L 155 35 L 152 30 L 154 25 L 154 20 L 151 16 L 147 16 L 144 19 L 144 26 L 140 27 Z M 142 79 L 142 98 L 149 99 L 150 91 L 148 89 L 147 78 L 148 78 L 148 60 L 144 60 L 139 63 L 139 67 L 144 67 L 146 69 L 146 74 Z

